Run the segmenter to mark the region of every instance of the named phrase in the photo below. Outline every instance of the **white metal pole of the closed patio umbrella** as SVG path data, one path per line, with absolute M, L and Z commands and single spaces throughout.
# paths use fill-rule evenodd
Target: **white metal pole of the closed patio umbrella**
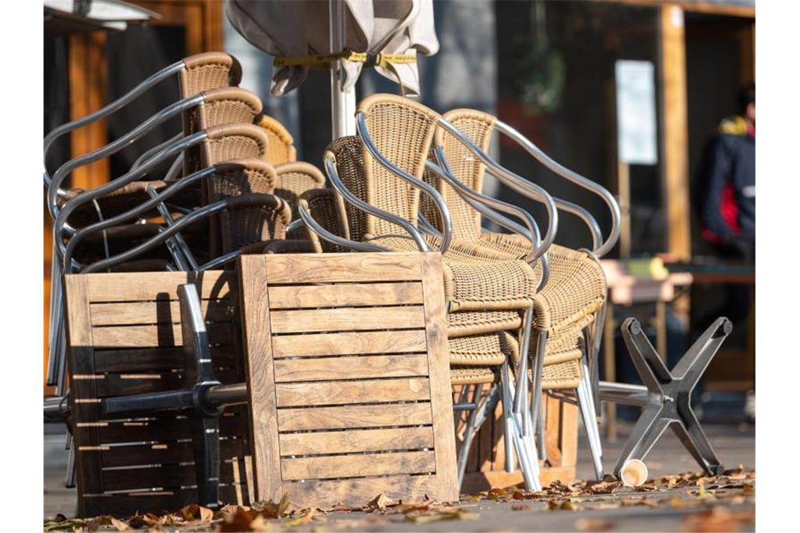
M 330 21 L 330 52 L 341 52 L 345 49 L 345 2 L 344 0 L 328 0 L 328 20 Z M 344 82 L 343 60 L 338 61 L 330 70 L 330 111 L 331 131 L 334 139 L 355 135 L 355 87 L 342 89 Z

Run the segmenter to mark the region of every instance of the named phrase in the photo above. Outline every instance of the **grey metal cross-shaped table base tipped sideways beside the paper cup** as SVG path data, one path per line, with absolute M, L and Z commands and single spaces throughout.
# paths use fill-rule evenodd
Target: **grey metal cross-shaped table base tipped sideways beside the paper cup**
M 614 475 L 619 477 L 630 459 L 644 459 L 667 427 L 706 474 L 722 473 L 724 468 L 692 410 L 691 393 L 732 330 L 727 318 L 715 320 L 670 372 L 638 320 L 628 318 L 622 323 L 622 337 L 643 385 L 601 381 L 599 395 L 602 400 L 641 406 L 642 414 L 622 448 Z

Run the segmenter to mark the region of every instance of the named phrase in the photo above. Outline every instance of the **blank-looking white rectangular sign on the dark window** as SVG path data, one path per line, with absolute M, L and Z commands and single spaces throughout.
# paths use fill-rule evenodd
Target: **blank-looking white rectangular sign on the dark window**
M 654 66 L 649 61 L 620 60 L 617 82 L 617 146 L 620 161 L 658 163 Z

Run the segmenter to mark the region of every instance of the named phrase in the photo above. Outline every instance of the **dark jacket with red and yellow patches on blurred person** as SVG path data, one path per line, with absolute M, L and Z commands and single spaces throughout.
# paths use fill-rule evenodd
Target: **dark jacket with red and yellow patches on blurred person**
M 755 131 L 742 117 L 722 121 L 706 147 L 695 192 L 706 241 L 755 242 Z

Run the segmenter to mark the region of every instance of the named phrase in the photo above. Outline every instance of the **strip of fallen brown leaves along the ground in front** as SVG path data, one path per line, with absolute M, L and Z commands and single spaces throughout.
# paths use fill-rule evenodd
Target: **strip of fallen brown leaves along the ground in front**
M 378 494 L 362 506 L 335 505 L 328 509 L 292 508 L 289 495 L 285 493 L 277 502 L 260 501 L 244 505 L 226 505 L 212 511 L 197 504 L 187 505 L 179 511 L 136 514 L 126 519 L 110 515 L 90 519 L 67 519 L 56 515 L 46 520 L 44 531 L 286 531 L 294 527 L 311 525 L 314 531 L 358 529 L 359 524 L 378 526 L 394 521 L 391 517 L 410 523 L 426 524 L 440 520 L 478 519 L 477 512 L 470 511 L 465 503 L 494 501 L 511 503 L 510 511 L 543 509 L 550 511 L 606 510 L 618 507 L 660 505 L 674 508 L 704 507 L 706 515 L 698 516 L 698 527 L 714 527 L 716 523 L 730 523 L 740 515 L 726 515 L 726 505 L 738 505 L 753 501 L 755 495 L 755 471 L 742 465 L 724 471 L 721 475 L 708 476 L 702 472 L 684 472 L 648 479 L 638 487 L 625 487 L 612 475 L 594 481 L 578 480 L 574 483 L 554 481 L 541 491 L 529 491 L 520 485 L 507 488 L 492 488 L 473 495 L 462 495 L 460 502 L 439 502 L 425 497 L 420 502 L 395 501 L 385 494 Z M 526 503 L 522 503 L 526 502 Z M 542 503 L 542 507 L 531 507 L 529 503 Z M 716 506 L 722 511 L 714 511 Z M 326 520 L 328 513 L 366 513 L 374 515 L 367 519 Z M 731 511 L 733 512 L 733 511 Z M 382 518 L 386 516 L 386 518 Z M 733 516 L 734 518 L 731 518 Z M 578 527 L 576 522 L 576 527 Z M 694 522 L 693 522 L 694 524 Z M 587 523 L 581 522 L 582 527 Z M 599 525 L 599 523 L 598 523 Z M 597 531 L 603 530 L 601 527 Z M 588 530 L 582 530 L 588 531 Z M 698 529 L 698 531 L 716 531 Z

